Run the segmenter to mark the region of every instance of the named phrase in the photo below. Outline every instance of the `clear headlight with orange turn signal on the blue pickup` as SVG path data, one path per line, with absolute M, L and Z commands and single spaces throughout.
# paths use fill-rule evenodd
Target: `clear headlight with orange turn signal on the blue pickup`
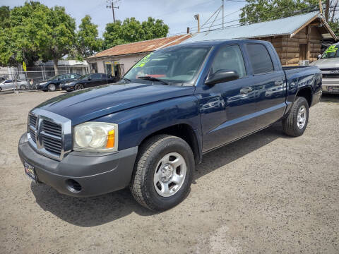
M 112 152 L 118 149 L 118 125 L 87 122 L 74 127 L 73 149 L 88 152 Z

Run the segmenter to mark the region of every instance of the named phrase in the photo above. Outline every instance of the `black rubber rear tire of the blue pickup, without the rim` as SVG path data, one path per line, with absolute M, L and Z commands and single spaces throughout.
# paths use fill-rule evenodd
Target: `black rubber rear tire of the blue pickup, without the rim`
M 304 107 L 306 110 L 306 121 L 302 128 L 298 127 L 298 112 L 299 109 Z M 302 135 L 307 127 L 307 123 L 309 122 L 309 104 L 307 99 L 304 97 L 297 97 L 295 103 L 293 103 L 292 109 L 289 114 L 283 120 L 283 131 L 286 135 L 290 135 L 292 137 L 299 137 Z

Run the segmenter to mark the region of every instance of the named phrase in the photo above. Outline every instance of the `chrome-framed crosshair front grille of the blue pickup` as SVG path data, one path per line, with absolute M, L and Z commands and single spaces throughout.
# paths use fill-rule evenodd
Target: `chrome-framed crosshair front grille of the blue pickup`
M 72 148 L 71 120 L 34 109 L 28 118 L 28 141 L 42 155 L 61 160 Z

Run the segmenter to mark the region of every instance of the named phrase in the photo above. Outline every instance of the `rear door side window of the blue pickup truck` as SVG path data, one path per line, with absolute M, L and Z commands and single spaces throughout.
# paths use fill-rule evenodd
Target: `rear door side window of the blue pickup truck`
M 249 62 L 254 74 L 263 74 L 274 71 L 270 54 L 263 44 L 246 44 Z

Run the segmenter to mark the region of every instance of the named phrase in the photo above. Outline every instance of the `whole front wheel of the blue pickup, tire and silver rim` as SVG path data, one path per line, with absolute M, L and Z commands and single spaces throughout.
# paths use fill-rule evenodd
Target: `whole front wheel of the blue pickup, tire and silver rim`
M 163 211 L 186 198 L 194 172 L 189 144 L 173 135 L 155 135 L 141 145 L 130 190 L 150 210 Z

